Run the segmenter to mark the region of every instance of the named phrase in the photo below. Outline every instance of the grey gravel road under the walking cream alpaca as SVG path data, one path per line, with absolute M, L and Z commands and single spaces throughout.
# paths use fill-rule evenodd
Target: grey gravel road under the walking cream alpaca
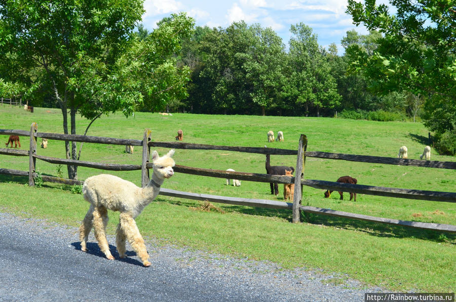
M 0 212 L 0 301 L 364 301 L 365 292 L 382 291 L 346 278 L 334 285 L 340 276 L 163 247 L 151 239 L 152 266 L 144 268 L 128 244 L 126 259 L 116 251 L 110 261 L 93 233 L 88 253 L 78 237 L 76 228 Z

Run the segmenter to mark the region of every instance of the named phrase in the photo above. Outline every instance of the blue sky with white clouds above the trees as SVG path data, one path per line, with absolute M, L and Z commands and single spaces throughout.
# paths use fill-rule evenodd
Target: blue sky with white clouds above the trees
M 387 1 L 382 1 L 382 3 Z M 340 40 L 350 29 L 365 34 L 363 26 L 356 27 L 345 13 L 347 0 L 145 0 L 144 27 L 151 30 L 157 21 L 172 13 L 187 12 L 197 26 L 226 28 L 234 21 L 259 23 L 271 27 L 288 45 L 290 26 L 303 22 L 318 36 L 319 45 L 327 48 L 335 43 L 338 54 L 344 49 Z

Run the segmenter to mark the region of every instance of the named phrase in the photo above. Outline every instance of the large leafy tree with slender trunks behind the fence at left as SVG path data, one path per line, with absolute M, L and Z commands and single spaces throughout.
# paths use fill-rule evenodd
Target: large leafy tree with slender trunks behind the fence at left
M 65 134 L 76 134 L 77 114 L 90 126 L 110 112 L 131 116 L 143 100 L 161 107 L 185 94 L 188 69 L 176 67 L 174 54 L 193 19 L 173 15 L 141 40 L 133 29 L 143 12 L 142 0 L 0 0 L 0 78 L 23 97 L 48 89 Z M 78 159 L 75 142 L 65 150 Z M 77 178 L 77 167 L 68 166 L 68 177 Z

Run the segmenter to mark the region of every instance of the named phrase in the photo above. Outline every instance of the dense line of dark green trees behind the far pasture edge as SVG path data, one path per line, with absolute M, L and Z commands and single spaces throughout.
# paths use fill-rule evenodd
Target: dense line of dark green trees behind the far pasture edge
M 348 110 L 384 110 L 413 116 L 405 93 L 372 94 L 361 75 L 348 73 L 351 58 L 335 44 L 318 44 L 312 28 L 290 28 L 285 45 L 271 28 L 234 22 L 227 28 L 196 27 L 182 41 L 179 62 L 192 70 L 188 96 L 169 103 L 171 110 L 200 114 L 334 116 Z M 144 35 L 140 28 L 139 34 Z M 347 32 L 345 48 L 375 49 L 372 31 Z M 419 109 L 419 108 L 418 108 Z M 143 108 L 147 110 L 147 108 Z

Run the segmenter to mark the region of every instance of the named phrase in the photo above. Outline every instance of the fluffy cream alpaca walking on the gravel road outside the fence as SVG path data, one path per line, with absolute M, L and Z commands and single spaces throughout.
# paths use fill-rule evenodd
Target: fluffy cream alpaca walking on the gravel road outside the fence
M 107 209 L 119 211 L 121 212 L 120 221 L 116 231 L 119 256 L 125 258 L 125 242 L 128 240 L 138 257 L 141 258 L 142 264 L 145 267 L 150 266 L 149 255 L 136 226 L 135 218 L 145 206 L 157 197 L 165 178 L 170 178 L 174 174 L 172 168 L 174 160 L 171 158 L 173 155 L 174 150 L 170 150 L 163 157 L 159 157 L 157 151 L 153 152 L 154 173 L 143 188 L 130 181 L 108 174 L 92 176 L 84 181 L 84 199 L 90 203 L 90 208 L 79 228 L 81 250 L 87 251 L 86 242 L 93 227 L 100 250 L 106 255 L 106 258 L 114 259 L 109 251 L 106 239 Z

